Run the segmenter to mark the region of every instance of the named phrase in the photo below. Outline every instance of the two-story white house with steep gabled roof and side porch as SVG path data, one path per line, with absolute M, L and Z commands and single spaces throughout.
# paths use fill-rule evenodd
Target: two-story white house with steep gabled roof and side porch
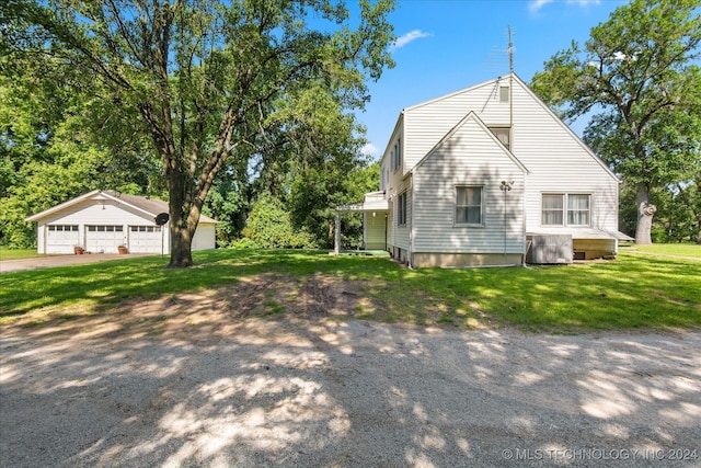
M 413 266 L 614 255 L 619 180 L 516 75 L 404 109 L 361 210 Z M 384 221 L 387 219 L 387 221 Z

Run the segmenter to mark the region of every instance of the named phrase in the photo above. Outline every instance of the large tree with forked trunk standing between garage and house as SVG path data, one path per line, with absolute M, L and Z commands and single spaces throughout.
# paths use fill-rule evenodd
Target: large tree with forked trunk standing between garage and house
M 23 47 L 97 82 L 103 129 L 148 135 L 171 216 L 170 266 L 192 265 L 203 204 L 222 168 L 245 168 L 287 129 L 280 106 L 322 87 L 343 106 L 392 66 L 393 0 L 11 0 Z M 34 47 L 28 47 L 27 44 Z M 60 45 L 60 47 L 54 47 Z

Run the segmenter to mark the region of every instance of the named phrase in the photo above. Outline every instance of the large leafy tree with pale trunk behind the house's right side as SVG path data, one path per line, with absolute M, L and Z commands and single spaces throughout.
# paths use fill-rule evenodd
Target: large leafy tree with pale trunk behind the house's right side
M 635 186 L 635 241 L 651 243 L 655 187 L 698 161 L 699 0 L 633 0 L 533 77 L 565 118 L 593 113 L 585 140 Z

